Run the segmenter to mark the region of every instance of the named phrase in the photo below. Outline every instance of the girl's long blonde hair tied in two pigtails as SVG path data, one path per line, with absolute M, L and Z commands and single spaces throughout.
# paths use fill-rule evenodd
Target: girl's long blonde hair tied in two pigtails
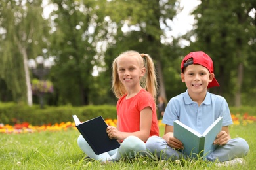
M 116 95 L 117 98 L 120 98 L 127 93 L 125 86 L 123 86 L 119 80 L 117 72 L 117 61 L 119 57 L 124 55 L 136 57 L 139 61 L 139 64 L 141 64 L 141 67 L 146 68 L 146 74 L 140 78 L 140 86 L 147 90 L 156 101 L 158 82 L 156 80 L 156 72 L 153 59 L 148 54 L 139 54 L 139 52 L 132 50 L 121 53 L 116 59 L 114 59 L 112 63 L 112 90 L 114 95 Z

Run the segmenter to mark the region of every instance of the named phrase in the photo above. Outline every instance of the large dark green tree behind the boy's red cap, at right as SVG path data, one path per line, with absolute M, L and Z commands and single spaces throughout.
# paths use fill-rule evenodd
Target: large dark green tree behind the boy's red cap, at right
M 255 1 L 202 1 L 193 13 L 195 30 L 189 33 L 196 37 L 189 48 L 203 50 L 213 58 L 215 76 L 221 84 L 213 90 L 234 95 L 236 106 L 241 105 L 247 61 L 255 57 L 255 7 Z M 253 11 L 254 17 L 249 15 Z

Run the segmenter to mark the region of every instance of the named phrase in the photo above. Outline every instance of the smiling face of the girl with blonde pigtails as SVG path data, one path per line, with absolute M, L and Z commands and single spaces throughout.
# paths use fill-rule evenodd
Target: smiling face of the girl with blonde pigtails
M 120 56 L 117 61 L 119 80 L 126 88 L 140 86 L 140 77 L 144 76 L 145 72 L 145 67 L 142 67 L 135 56 Z

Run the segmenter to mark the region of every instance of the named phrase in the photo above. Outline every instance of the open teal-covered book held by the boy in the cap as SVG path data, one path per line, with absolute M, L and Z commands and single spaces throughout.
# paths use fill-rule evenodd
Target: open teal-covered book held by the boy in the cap
M 198 131 L 182 124 L 179 120 L 175 120 L 173 136 L 183 143 L 184 149 L 182 151 L 184 154 L 194 158 L 202 156 L 205 159 L 217 147 L 217 145 L 213 144 L 213 141 L 215 141 L 217 134 L 221 131 L 222 122 L 222 117 L 217 118 L 203 134 L 200 134 Z

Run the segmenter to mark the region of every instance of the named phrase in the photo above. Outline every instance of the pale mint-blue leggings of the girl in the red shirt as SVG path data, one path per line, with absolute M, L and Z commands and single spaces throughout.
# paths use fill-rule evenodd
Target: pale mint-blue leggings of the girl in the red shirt
M 110 150 L 109 152 L 105 152 L 99 155 L 96 155 L 91 146 L 85 141 L 82 135 L 79 135 L 77 139 L 78 146 L 89 156 L 95 160 L 100 161 L 112 161 L 119 160 L 123 156 L 127 156 L 132 158 L 138 152 L 144 154 L 146 152 L 146 144 L 140 140 L 138 137 L 129 136 L 127 137 L 123 143 L 121 143 L 120 147 L 114 150 Z

